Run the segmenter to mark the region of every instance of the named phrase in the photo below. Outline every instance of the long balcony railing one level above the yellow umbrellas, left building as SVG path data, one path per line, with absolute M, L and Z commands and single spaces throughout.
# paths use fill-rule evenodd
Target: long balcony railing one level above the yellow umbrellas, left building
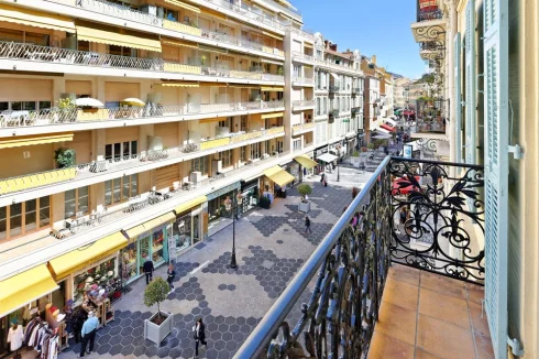
M 38 46 L 33 44 L 0 42 L 0 57 L 31 62 L 45 62 L 52 64 L 90 66 L 99 68 L 135 69 L 155 73 L 155 78 L 166 77 L 163 73 L 199 75 L 207 77 L 223 77 L 232 79 L 248 79 L 260 81 L 284 83 L 285 77 L 275 74 L 264 74 L 261 70 L 244 72 L 230 69 L 228 66 L 209 67 L 200 61 L 189 59 L 188 64 L 180 64 L 162 58 L 139 58 L 84 52 L 68 48 Z M 58 72 L 63 68 L 58 67 Z M 65 70 L 65 68 L 64 68 Z M 76 69 L 74 69 L 76 73 Z

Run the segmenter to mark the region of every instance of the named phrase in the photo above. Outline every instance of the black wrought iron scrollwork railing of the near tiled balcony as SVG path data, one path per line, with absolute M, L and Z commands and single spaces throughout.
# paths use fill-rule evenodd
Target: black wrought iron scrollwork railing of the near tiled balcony
M 366 358 L 391 262 L 482 284 L 483 185 L 481 166 L 386 156 L 234 358 Z

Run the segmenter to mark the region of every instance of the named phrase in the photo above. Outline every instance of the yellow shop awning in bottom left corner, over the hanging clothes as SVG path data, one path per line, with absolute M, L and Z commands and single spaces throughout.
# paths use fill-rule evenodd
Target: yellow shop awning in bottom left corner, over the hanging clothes
M 58 285 L 45 264 L 0 282 L 0 318 L 54 292 Z

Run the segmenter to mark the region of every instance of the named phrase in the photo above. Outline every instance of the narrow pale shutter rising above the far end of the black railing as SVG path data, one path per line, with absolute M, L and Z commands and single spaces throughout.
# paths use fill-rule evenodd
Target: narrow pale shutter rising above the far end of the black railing
M 466 8 L 466 36 L 465 36 L 465 86 L 466 86 L 466 163 L 475 164 L 475 0 L 468 1 Z

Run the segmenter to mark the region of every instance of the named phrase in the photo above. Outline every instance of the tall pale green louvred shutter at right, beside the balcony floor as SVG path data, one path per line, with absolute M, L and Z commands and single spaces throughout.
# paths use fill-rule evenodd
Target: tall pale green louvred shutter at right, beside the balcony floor
M 485 309 L 494 353 L 507 358 L 508 0 L 485 0 Z

